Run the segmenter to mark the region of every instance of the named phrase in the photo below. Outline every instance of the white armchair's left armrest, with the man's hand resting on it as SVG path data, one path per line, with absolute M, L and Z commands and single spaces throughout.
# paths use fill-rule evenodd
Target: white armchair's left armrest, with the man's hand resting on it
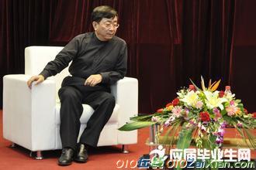
M 3 77 L 4 138 L 31 151 L 54 148 L 55 82 L 45 80 L 33 84 L 30 90 L 26 84 L 29 77 L 22 74 Z

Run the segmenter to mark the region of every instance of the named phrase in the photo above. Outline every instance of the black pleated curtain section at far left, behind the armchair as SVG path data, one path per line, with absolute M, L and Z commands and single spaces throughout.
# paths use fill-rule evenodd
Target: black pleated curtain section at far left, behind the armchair
M 26 46 L 47 45 L 54 0 L 0 0 L 0 107 L 2 76 L 24 73 Z

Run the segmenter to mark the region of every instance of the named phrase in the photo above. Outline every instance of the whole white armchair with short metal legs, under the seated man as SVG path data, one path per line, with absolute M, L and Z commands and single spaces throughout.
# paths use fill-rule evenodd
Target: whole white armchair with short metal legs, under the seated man
M 12 74 L 3 78 L 3 135 L 13 144 L 36 151 L 41 159 L 41 151 L 61 149 L 60 100 L 57 91 L 69 73 L 67 68 L 56 76 L 51 76 L 30 90 L 26 81 L 30 76 L 43 70 L 63 47 L 29 46 L 25 49 L 25 75 Z M 108 123 L 100 134 L 98 146 L 126 145 L 137 143 L 137 131 L 118 131 L 130 117 L 137 115 L 138 82 L 125 77 L 111 87 L 116 98 L 116 107 Z M 93 114 L 92 107 L 83 104 L 81 131 Z

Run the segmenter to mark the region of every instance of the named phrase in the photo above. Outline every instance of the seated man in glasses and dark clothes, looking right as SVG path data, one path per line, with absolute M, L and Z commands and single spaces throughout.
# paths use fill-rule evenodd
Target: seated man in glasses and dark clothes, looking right
M 126 74 L 127 47 L 123 39 L 115 36 L 119 27 L 116 10 L 105 5 L 94 8 L 92 26 L 94 32 L 75 36 L 38 76 L 27 82 L 30 88 L 33 81 L 42 83 L 72 61 L 71 76 L 64 78 L 59 90 L 63 147 L 59 165 L 71 165 L 73 159 L 87 162 L 88 146 L 97 146 L 99 134 L 116 104 L 109 85 Z M 77 144 L 82 104 L 89 104 L 95 112 Z

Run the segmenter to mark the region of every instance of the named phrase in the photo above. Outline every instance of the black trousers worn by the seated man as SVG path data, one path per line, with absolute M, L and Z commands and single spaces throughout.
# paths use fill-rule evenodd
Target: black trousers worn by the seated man
M 116 105 L 109 87 L 89 87 L 83 83 L 78 77 L 67 76 L 58 92 L 61 100 L 60 133 L 63 148 L 76 148 L 82 104 L 90 105 L 95 112 L 88 120 L 79 142 L 93 147 L 97 146 L 102 128 L 109 121 Z

